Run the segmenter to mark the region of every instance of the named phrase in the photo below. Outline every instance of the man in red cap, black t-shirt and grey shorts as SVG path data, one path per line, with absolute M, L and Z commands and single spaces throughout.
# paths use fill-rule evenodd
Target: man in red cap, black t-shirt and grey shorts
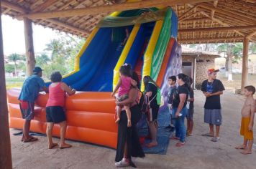
M 202 84 L 202 92 L 206 96 L 206 102 L 204 104 L 204 122 L 209 124 L 210 132 L 203 136 L 213 137 L 211 141 L 219 141 L 219 129 L 222 122 L 221 115 L 221 99 L 220 95 L 225 90 L 222 82 L 216 79 L 219 69 L 208 69 L 208 79 Z M 214 125 L 216 126 L 216 132 L 214 135 Z

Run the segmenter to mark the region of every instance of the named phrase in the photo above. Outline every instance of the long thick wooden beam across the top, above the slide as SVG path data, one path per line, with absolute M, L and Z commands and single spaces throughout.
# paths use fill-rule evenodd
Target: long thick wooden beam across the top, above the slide
M 155 6 L 173 6 L 175 4 L 188 4 L 188 3 L 201 3 L 212 0 L 147 0 L 147 1 L 135 1 L 123 4 L 114 4 L 109 6 L 93 6 L 82 9 L 68 9 L 63 11 L 43 11 L 37 13 L 23 14 L 18 16 L 18 19 L 27 17 L 29 19 L 48 19 L 48 18 L 60 18 L 69 16 L 84 16 L 87 14 L 101 14 L 112 11 L 126 11 L 131 9 L 150 8 Z

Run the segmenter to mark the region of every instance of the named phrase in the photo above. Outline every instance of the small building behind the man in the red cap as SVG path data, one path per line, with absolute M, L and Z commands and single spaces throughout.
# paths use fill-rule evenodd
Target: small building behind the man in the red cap
M 209 68 L 214 68 L 214 59 L 216 57 L 213 56 L 189 56 L 189 55 L 183 55 L 183 62 L 192 62 L 192 69 L 195 69 L 195 59 L 196 59 L 196 76 L 193 71 L 193 79 L 194 79 L 194 87 L 196 89 L 201 89 L 202 82 L 207 79 L 207 70 Z M 196 78 L 194 78 L 196 77 Z

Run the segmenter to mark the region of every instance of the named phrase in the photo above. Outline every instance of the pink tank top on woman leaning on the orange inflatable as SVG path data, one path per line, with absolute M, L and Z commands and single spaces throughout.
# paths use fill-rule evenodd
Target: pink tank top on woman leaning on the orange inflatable
M 61 82 L 55 87 L 49 86 L 49 98 L 46 104 L 48 106 L 61 106 L 65 105 L 65 91 L 61 88 Z

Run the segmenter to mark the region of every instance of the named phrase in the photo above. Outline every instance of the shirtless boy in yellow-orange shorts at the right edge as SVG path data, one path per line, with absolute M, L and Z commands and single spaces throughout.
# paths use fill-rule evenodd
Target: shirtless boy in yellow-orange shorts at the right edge
M 244 95 L 247 97 L 244 106 L 242 107 L 242 122 L 240 134 L 244 136 L 244 143 L 236 147 L 236 149 L 242 149 L 241 152 L 244 155 L 252 154 L 253 144 L 253 120 L 255 117 L 255 100 L 253 95 L 255 94 L 255 87 L 244 87 Z

